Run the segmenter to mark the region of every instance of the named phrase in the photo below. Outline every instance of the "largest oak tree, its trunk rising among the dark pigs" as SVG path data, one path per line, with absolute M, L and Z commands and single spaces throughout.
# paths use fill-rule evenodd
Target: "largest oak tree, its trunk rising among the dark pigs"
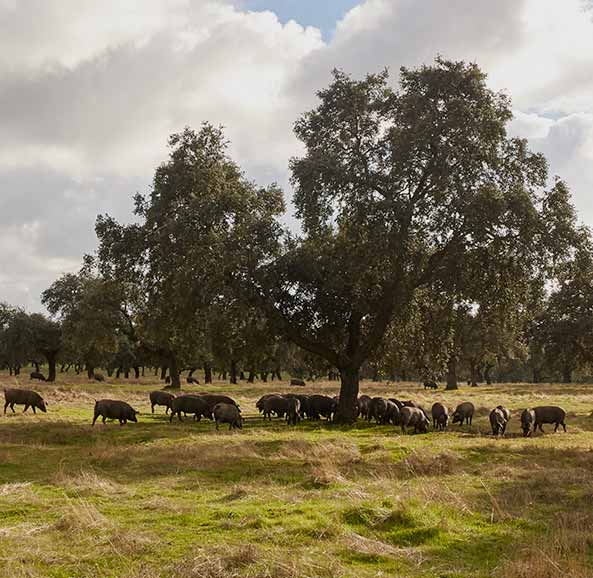
M 533 277 L 570 210 L 562 183 L 546 191 L 545 159 L 508 136 L 510 101 L 474 64 L 402 68 L 398 90 L 387 72 L 335 71 L 319 99 L 295 125 L 302 233 L 252 282 L 278 327 L 339 369 L 337 419 L 350 422 L 361 366 L 416 291 L 463 302 L 498 277 L 522 286 L 498 273 L 512 261 Z

